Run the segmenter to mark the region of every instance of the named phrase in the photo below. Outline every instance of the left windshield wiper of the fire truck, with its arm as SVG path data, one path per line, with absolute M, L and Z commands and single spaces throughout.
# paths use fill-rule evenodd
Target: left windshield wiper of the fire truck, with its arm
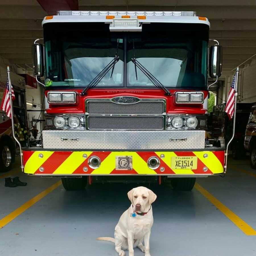
M 117 56 L 118 46 L 119 46 L 119 39 L 117 40 L 115 57 L 112 59 L 112 61 L 110 61 L 110 63 L 108 63 L 108 65 L 106 65 L 106 67 L 104 67 L 104 69 L 102 69 L 102 71 L 100 71 L 100 73 L 98 73 L 98 75 L 96 75 L 96 77 L 94 77 L 94 79 L 92 79 L 92 81 L 84 88 L 84 90 L 82 90 L 80 95 L 82 96 L 86 95 L 86 91 L 89 88 L 95 87 L 100 82 L 100 80 L 110 71 L 110 69 L 112 69 L 111 75 L 110 75 L 110 77 L 112 77 L 114 68 L 115 68 L 115 63 L 119 61 L 119 56 Z

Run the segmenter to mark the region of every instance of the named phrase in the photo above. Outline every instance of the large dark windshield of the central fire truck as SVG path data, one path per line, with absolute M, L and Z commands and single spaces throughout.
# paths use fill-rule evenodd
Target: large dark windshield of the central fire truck
M 115 57 L 97 87 L 154 87 L 136 58 L 169 88 L 205 89 L 209 28 L 202 24 L 143 24 L 142 32 L 110 32 L 102 23 L 44 25 L 46 86 L 87 86 Z M 119 44 L 117 42 L 119 41 Z M 125 65 L 124 65 L 125 63 Z

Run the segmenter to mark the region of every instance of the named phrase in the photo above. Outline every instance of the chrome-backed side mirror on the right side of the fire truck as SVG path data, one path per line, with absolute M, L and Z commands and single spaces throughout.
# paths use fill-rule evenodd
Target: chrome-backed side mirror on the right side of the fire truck
M 221 76 L 222 71 L 222 46 L 215 44 L 210 48 L 209 75 L 216 78 Z

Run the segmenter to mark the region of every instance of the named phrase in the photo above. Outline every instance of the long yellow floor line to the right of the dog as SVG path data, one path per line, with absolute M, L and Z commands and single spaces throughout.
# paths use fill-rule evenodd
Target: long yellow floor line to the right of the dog
M 195 183 L 195 189 L 197 189 L 204 197 L 206 197 L 213 205 L 215 205 L 227 218 L 229 218 L 238 228 L 240 228 L 240 230 L 242 230 L 245 235 L 256 236 L 256 230 L 254 230 L 240 217 L 234 214 L 234 212 L 223 205 L 218 199 L 216 199 L 198 183 Z

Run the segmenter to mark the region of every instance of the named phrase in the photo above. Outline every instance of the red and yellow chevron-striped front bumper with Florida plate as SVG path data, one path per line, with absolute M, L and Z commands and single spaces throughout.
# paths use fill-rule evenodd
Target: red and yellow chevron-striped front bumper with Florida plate
M 100 166 L 90 167 L 89 159 L 97 156 Z M 156 157 L 159 166 L 148 167 L 148 159 Z M 117 159 L 130 159 L 130 168 L 117 167 Z M 192 159 L 191 169 L 175 167 L 174 161 Z M 210 176 L 224 171 L 224 151 L 52 151 L 23 150 L 24 173 L 39 176 L 81 175 L 168 175 Z M 126 160 L 125 160 L 126 161 Z M 119 161 L 120 163 L 120 161 Z M 177 164 L 176 164 L 177 166 Z

